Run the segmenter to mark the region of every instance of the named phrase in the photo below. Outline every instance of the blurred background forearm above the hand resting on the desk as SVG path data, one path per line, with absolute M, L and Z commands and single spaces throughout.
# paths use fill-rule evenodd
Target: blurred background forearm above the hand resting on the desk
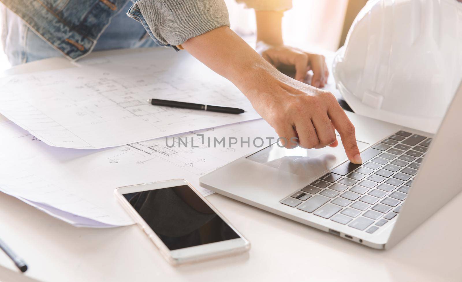
M 257 41 L 273 46 L 283 45 L 282 16 L 280 11 L 255 11 Z

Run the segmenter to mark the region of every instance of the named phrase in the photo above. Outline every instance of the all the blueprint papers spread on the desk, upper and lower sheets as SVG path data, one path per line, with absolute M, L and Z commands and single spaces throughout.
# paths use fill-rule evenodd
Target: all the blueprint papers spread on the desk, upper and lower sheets
M 9 76 L 0 88 L 0 113 L 12 121 L 0 123 L 0 190 L 75 226 L 132 224 L 113 197 L 125 185 L 185 178 L 210 193 L 199 187 L 201 175 L 254 152 L 255 137 L 276 137 L 262 120 L 238 123 L 260 117 L 231 82 L 186 52 L 86 60 Z M 152 106 L 152 98 L 246 112 Z M 159 138 L 178 134 L 188 138 L 187 147 Z M 207 137 L 250 143 L 209 147 L 201 144 Z

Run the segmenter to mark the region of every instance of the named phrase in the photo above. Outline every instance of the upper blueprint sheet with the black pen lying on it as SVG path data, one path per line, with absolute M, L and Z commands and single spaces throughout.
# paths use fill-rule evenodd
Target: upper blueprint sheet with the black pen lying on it
M 55 147 L 115 147 L 260 118 L 231 82 L 188 53 L 163 48 L 8 76 L 0 79 L 0 89 L 0 113 Z M 246 112 L 152 106 L 152 98 Z

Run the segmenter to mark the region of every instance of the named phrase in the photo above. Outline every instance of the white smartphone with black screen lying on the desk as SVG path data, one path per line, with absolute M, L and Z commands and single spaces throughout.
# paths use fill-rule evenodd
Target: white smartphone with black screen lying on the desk
M 249 241 L 184 179 L 125 186 L 114 192 L 171 264 L 250 248 Z

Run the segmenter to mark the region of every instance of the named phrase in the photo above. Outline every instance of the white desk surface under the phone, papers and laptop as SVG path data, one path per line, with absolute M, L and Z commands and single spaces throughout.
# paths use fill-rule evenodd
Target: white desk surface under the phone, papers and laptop
M 121 52 L 135 51 L 105 53 Z M 47 59 L 3 75 L 70 66 L 66 59 Z M 0 193 L 0 236 L 29 266 L 20 274 L 0 252 L 0 281 L 462 281 L 458 217 L 462 194 L 388 251 L 218 194 L 207 199 L 251 241 L 252 248 L 237 256 L 172 267 L 135 225 L 76 228 Z

